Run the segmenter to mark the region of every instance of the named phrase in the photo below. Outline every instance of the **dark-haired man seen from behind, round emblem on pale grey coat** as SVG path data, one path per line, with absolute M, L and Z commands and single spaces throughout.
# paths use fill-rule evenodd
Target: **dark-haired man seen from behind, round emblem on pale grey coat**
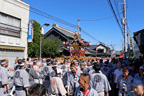
M 100 65 L 94 64 L 95 73 L 91 74 L 91 86 L 94 88 L 99 96 L 109 96 L 111 90 L 107 77 L 100 72 Z

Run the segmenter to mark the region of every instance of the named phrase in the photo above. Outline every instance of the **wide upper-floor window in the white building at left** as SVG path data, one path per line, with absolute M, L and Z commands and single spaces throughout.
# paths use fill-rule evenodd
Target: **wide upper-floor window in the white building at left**
M 0 34 L 20 38 L 21 20 L 0 12 Z

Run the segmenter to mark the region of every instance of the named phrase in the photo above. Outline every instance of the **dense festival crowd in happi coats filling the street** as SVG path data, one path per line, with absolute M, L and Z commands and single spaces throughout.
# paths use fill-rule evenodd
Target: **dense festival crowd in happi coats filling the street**
M 144 96 L 144 60 L 0 60 L 0 96 Z

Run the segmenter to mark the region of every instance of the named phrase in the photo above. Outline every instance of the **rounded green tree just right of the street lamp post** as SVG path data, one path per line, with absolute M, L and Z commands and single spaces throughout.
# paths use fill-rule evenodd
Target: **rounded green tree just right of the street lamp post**
M 58 37 L 42 39 L 42 57 L 59 56 L 61 48 L 62 41 Z

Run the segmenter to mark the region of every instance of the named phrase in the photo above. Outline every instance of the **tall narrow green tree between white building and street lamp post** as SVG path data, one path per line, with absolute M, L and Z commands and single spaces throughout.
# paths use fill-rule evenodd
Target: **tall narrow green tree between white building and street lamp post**
M 34 20 L 33 42 L 28 43 L 28 57 L 39 57 L 40 54 L 40 24 Z

